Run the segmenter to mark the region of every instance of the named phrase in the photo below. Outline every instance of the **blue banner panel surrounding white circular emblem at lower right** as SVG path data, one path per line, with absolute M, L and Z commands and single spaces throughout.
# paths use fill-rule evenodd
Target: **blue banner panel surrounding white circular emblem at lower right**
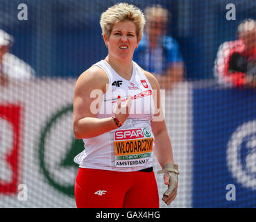
M 256 191 L 238 184 L 226 162 L 232 133 L 242 123 L 256 119 L 255 93 L 255 89 L 194 89 L 193 207 L 255 207 Z M 245 156 L 242 148 L 241 158 Z M 228 184 L 236 187 L 235 201 L 225 198 Z

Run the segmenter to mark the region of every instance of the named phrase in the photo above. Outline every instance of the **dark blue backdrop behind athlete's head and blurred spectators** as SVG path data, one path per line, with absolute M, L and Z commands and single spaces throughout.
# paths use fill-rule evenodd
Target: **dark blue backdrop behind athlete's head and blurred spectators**
M 12 53 L 28 62 L 37 76 L 78 77 L 105 58 L 101 12 L 114 3 L 101 0 L 24 0 L 28 20 L 17 19 L 19 0 L 0 0 L 0 26 L 15 37 Z M 256 2 L 234 0 L 236 20 L 228 21 L 225 0 L 128 0 L 142 10 L 153 3 L 171 12 L 167 33 L 180 45 L 189 80 L 214 78 L 213 66 L 221 43 L 237 37 L 239 22 L 256 17 Z

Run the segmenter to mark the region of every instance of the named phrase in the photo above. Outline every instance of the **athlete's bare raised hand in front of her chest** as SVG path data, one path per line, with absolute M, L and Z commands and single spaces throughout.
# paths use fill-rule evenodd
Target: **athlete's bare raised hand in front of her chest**
M 117 106 L 114 108 L 114 116 L 124 123 L 130 114 L 130 107 L 132 105 L 132 97 L 129 95 L 126 99 L 126 103 L 121 105 L 122 99 L 121 96 L 117 97 Z

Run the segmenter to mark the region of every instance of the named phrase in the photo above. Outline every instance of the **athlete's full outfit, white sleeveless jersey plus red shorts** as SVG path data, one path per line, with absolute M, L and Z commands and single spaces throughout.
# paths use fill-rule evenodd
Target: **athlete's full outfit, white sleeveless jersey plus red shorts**
M 119 95 L 122 103 L 126 102 L 128 95 L 132 96 L 132 106 L 128 119 L 120 128 L 83 139 L 85 150 L 74 158 L 79 164 L 76 205 L 95 208 L 159 207 L 152 171 L 153 89 L 135 62 L 130 80 L 119 76 L 105 60 L 95 65 L 105 71 L 109 80 L 97 117 L 112 117 Z

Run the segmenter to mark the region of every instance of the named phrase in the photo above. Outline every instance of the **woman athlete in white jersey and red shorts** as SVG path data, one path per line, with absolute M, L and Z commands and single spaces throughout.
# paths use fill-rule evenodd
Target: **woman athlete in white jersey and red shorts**
M 81 74 L 74 90 L 74 134 L 85 150 L 75 184 L 77 207 L 157 208 L 153 153 L 176 198 L 178 165 L 160 108 L 156 78 L 133 62 L 145 24 L 141 10 L 118 3 L 101 15 L 108 56 Z

